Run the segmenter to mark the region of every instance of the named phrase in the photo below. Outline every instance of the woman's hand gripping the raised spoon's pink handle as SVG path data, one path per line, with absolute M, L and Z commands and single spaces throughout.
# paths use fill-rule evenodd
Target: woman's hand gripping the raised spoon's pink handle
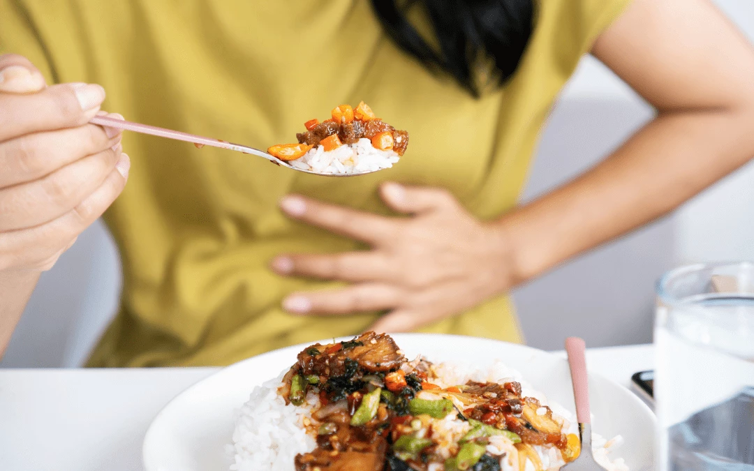
M 104 99 L 0 56 L 0 274 L 50 269 L 123 190 L 121 133 L 87 124 Z

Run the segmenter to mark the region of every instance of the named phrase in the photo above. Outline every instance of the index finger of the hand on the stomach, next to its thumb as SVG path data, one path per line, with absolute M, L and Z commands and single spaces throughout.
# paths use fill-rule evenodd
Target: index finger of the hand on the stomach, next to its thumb
M 284 197 L 280 208 L 295 219 L 368 243 L 385 240 L 397 229 L 391 219 L 297 195 Z

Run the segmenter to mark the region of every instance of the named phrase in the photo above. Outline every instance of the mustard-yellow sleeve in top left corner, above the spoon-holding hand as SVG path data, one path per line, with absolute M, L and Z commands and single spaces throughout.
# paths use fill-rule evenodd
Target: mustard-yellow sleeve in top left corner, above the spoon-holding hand
M 54 72 L 40 32 L 32 23 L 23 0 L 0 0 L 0 54 L 11 53 L 31 60 L 48 83 L 54 83 Z

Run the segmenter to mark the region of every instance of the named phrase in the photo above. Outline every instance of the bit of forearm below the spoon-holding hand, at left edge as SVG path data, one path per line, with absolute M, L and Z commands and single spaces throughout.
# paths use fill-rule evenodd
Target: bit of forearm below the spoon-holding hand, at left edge
M 38 271 L 0 273 L 0 358 L 38 280 Z

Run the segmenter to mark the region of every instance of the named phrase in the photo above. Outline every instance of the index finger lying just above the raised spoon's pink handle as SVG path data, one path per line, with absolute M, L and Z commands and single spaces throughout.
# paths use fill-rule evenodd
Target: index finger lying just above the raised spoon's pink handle
M 31 95 L 0 93 L 0 142 L 40 131 L 87 124 L 105 89 L 96 84 L 52 85 Z

